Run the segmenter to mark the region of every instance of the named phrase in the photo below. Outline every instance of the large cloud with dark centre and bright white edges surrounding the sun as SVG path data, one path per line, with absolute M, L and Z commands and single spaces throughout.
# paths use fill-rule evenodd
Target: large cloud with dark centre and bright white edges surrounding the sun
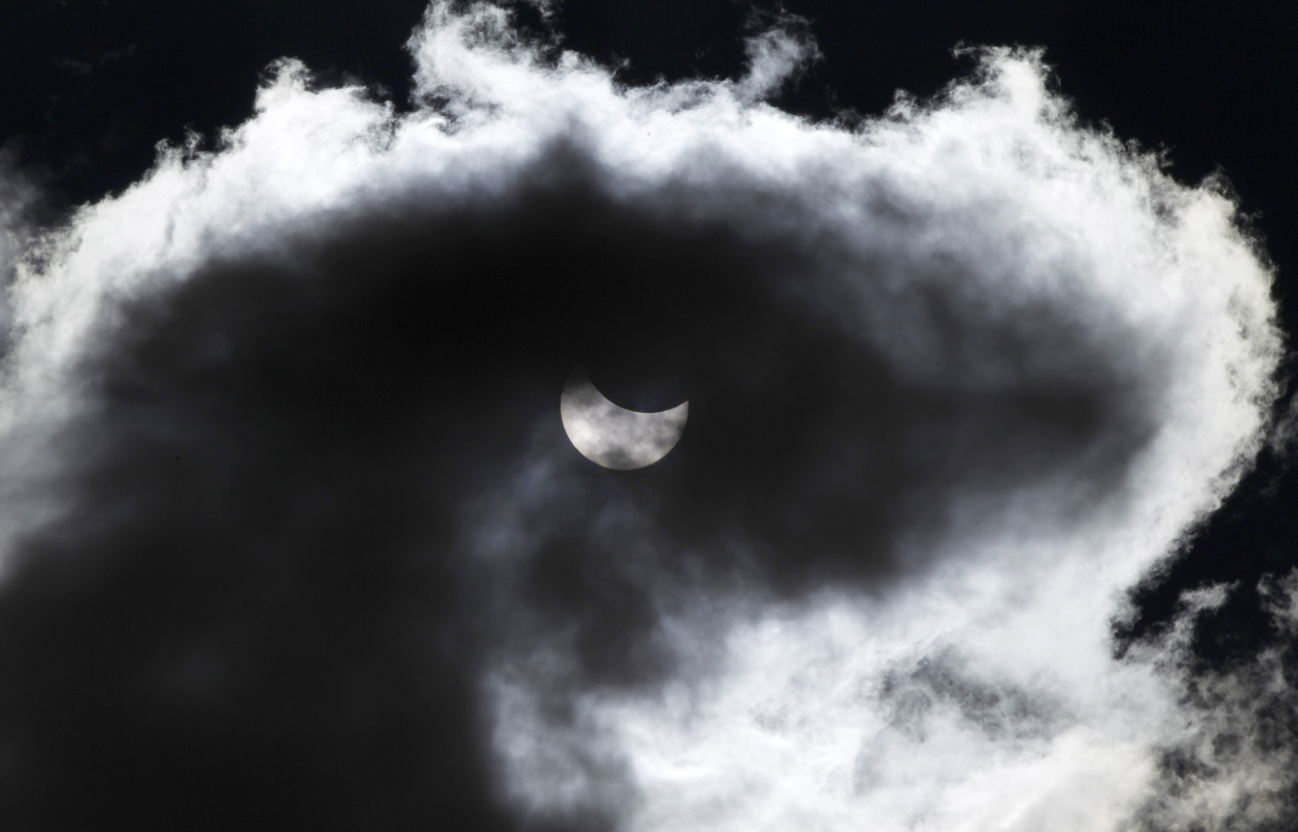
M 1184 706 L 1184 640 L 1110 639 L 1263 443 L 1234 204 L 1036 52 L 789 116 L 783 31 L 628 87 L 435 3 L 414 112 L 283 61 L 218 149 L 25 249 L 6 828 L 1281 816 L 1288 740 L 1210 759 L 1260 671 Z M 679 445 L 582 458 L 578 363 L 688 396 Z

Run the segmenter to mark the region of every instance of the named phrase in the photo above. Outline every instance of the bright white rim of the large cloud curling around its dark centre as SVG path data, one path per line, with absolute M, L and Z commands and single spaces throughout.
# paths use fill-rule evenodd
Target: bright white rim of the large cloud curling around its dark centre
M 657 597 L 663 642 L 706 657 L 662 688 L 579 688 L 578 716 L 554 723 L 541 698 L 575 672 L 565 644 L 528 661 L 502 652 L 484 688 L 511 800 L 539 814 L 591 805 L 635 829 L 1081 832 L 1154 815 L 1215 829 L 1243 805 L 1272 816 L 1290 752 L 1224 763 L 1212 741 L 1229 729 L 1247 745 L 1247 696 L 1280 683 L 1240 671 L 1185 709 L 1184 644 L 1119 661 L 1108 633 L 1123 592 L 1233 487 L 1275 396 L 1271 273 L 1212 183 L 1182 186 L 1080 126 L 1029 52 L 989 49 L 936 103 L 848 131 L 758 101 L 815 53 L 778 32 L 750 40 L 740 82 L 646 88 L 526 42 L 489 5 L 435 3 L 410 48 L 423 109 L 313 88 L 284 62 L 221 149 L 165 152 L 30 249 L 6 457 L 78 406 L 71 373 L 122 297 L 230 252 L 292 267 L 295 245 L 343 218 L 489 201 L 544 175 L 539 160 L 569 140 L 615 201 L 820 252 L 819 274 L 781 288 L 788 302 L 907 385 L 990 401 L 1096 382 L 1124 396 L 1106 417 L 1132 415 L 1129 434 L 1099 431 L 1066 463 L 1049 443 L 1007 459 L 1031 471 L 1009 485 L 951 471 L 910 495 L 894 544 L 916 566 L 884 591 Z M 1106 479 L 1114 456 L 1129 465 Z M 32 482 L 57 479 L 38 469 Z M 539 493 L 574 493 L 549 445 L 517 470 L 517 488 L 474 514 L 496 518 L 474 537 L 483 557 L 526 552 L 519 514 Z M 667 545 L 652 530 L 640 543 Z M 1207 774 L 1169 789 L 1169 748 Z

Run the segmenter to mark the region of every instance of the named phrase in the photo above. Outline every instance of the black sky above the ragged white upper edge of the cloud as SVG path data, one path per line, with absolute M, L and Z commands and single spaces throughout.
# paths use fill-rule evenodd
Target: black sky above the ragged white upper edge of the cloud
M 5 106 L 0 135 L 58 192 L 87 200 L 132 182 L 161 139 L 186 127 L 210 135 L 251 114 L 270 61 L 299 57 L 328 79 L 382 84 L 402 103 L 409 57 L 400 45 L 418 0 L 360 3 L 19 0 L 4 17 Z M 1298 178 L 1285 149 L 1298 130 L 1298 58 L 1273 4 L 915 3 L 796 0 L 824 58 L 781 106 L 814 116 L 877 113 L 897 90 L 936 92 L 968 61 L 959 44 L 1044 45 L 1063 91 L 1088 118 L 1171 152 L 1185 180 L 1221 170 L 1281 263 L 1298 257 L 1284 234 Z M 624 58 L 628 80 L 735 75 L 746 4 L 569 0 L 566 44 Z

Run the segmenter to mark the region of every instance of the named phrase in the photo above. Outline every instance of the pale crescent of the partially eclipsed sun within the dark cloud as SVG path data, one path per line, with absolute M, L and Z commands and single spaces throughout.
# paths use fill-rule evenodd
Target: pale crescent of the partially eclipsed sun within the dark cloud
M 604 397 L 578 366 L 559 396 L 559 417 L 572 447 L 606 469 L 630 471 L 662 459 L 680 441 L 689 402 L 670 410 L 640 413 Z

